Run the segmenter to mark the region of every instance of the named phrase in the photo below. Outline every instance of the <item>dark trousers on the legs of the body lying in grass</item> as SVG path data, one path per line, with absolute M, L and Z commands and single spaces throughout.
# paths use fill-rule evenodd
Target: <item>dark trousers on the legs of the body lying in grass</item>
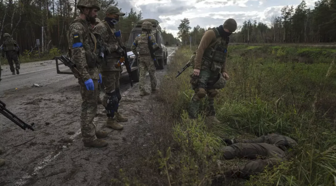
M 244 178 L 262 172 L 266 166 L 273 167 L 284 160 L 285 152 L 273 144 L 268 143 L 235 143 L 222 149 L 224 159 L 247 157 L 256 159 L 244 165 L 234 166 L 228 170 L 229 176 Z M 267 157 L 267 159 L 257 159 Z

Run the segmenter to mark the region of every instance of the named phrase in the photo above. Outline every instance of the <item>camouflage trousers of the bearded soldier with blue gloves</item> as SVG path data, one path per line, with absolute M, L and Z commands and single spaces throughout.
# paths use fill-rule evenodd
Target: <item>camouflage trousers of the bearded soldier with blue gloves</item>
M 94 90 L 87 90 L 82 79 L 78 79 L 81 85 L 80 92 L 82 96 L 82 110 L 80 124 L 83 142 L 91 142 L 97 139 L 95 135 L 95 125 L 93 119 L 97 113 L 97 87 L 98 80 L 93 80 Z

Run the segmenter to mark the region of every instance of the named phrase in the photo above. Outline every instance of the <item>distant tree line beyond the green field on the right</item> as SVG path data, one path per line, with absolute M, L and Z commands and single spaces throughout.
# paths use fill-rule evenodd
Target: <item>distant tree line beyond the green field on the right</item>
M 313 9 L 302 1 L 296 8 L 284 6 L 270 24 L 246 20 L 230 36 L 235 43 L 330 43 L 336 42 L 336 0 L 320 0 Z M 219 25 L 218 25 L 219 26 Z M 210 28 L 208 28 L 210 29 Z M 187 18 L 181 20 L 178 37 L 184 44 L 199 43 L 208 30 L 199 25 L 191 30 Z

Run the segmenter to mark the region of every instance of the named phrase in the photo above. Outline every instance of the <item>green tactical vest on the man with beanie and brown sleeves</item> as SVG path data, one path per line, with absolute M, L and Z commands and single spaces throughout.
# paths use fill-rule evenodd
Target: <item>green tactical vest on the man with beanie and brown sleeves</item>
M 211 64 L 211 70 L 214 72 L 221 72 L 222 65 L 226 61 L 227 47 L 229 43 L 229 37 L 224 40 L 220 35 L 217 28 L 212 28 L 216 34 L 217 42 L 215 45 L 210 45 L 205 49 L 203 59 L 209 61 Z

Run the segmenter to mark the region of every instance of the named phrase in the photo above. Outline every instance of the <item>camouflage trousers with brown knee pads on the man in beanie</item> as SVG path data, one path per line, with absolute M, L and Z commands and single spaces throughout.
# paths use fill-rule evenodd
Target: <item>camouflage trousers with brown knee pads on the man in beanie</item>
M 197 116 L 198 108 L 201 103 L 201 99 L 207 96 L 207 112 L 208 115 L 215 115 L 215 107 L 214 107 L 214 94 L 216 90 L 213 88 L 213 85 L 218 80 L 218 73 L 212 72 L 211 69 L 201 69 L 200 76 L 197 79 L 197 82 L 192 83 L 192 88 L 195 91 L 190 104 L 189 104 L 189 115 L 192 118 Z M 202 91 L 202 92 L 200 92 Z M 203 92 L 206 91 L 206 92 Z

